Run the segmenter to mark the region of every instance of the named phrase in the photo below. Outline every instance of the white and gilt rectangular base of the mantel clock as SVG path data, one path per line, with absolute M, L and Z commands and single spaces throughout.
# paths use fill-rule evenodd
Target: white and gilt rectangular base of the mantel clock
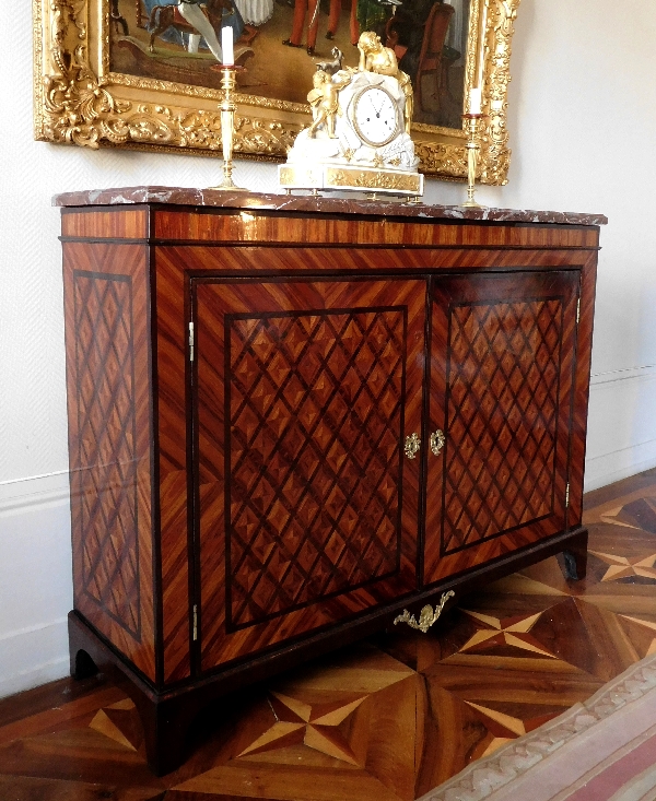
M 375 191 L 410 197 L 423 195 L 424 184 L 420 173 L 335 164 L 281 164 L 278 180 L 285 190 Z

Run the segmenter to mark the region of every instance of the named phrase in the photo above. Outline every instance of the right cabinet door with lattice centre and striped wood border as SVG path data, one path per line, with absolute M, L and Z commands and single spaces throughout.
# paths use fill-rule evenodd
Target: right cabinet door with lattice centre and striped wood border
M 578 278 L 434 283 L 426 584 L 565 529 Z

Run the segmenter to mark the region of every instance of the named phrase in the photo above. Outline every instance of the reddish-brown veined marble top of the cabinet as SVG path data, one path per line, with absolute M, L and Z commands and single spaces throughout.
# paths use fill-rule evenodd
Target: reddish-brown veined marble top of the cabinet
M 561 225 L 606 225 L 604 214 L 578 214 L 563 211 L 530 211 L 527 209 L 467 209 L 462 205 L 429 205 L 400 202 L 395 199 L 365 200 L 312 195 L 263 195 L 230 192 L 216 189 L 185 189 L 184 187 L 125 187 L 63 192 L 52 198 L 52 205 L 120 205 L 130 203 L 165 203 L 171 205 L 202 205 L 220 209 L 251 209 L 254 211 L 317 212 L 324 214 L 371 214 L 417 219 L 484 220 L 489 222 L 555 223 Z

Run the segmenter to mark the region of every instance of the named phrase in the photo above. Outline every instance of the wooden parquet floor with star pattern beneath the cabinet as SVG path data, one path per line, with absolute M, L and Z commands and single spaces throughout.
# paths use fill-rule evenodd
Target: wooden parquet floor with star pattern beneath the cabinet
M 1 801 L 411 801 L 656 650 L 656 470 L 586 498 L 588 577 L 557 558 L 208 710 L 153 777 L 102 680 L 0 702 Z

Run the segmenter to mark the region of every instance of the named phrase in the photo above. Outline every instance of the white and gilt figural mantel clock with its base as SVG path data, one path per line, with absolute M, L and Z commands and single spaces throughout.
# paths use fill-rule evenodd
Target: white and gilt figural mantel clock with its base
M 410 79 L 376 34 L 363 33 L 358 47 L 358 69 L 339 64 L 331 74 L 318 66 L 307 95 L 313 122 L 279 167 L 280 185 L 421 196 Z

